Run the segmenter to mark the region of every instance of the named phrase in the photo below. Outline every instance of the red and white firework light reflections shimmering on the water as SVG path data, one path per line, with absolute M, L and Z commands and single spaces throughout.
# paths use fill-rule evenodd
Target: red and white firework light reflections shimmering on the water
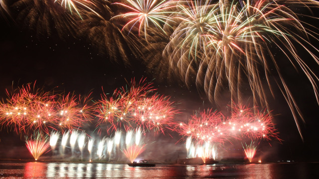
M 129 167 L 126 164 L 39 163 L 25 164 L 24 178 L 242 178 L 271 179 L 274 165 L 157 165 L 152 168 Z

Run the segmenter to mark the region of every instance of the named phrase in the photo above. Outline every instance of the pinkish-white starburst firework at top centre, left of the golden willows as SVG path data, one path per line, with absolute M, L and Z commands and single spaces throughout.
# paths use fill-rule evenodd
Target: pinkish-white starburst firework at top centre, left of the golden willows
M 173 19 L 169 17 L 169 14 L 173 13 L 173 11 L 169 11 L 169 9 L 175 7 L 175 0 L 127 0 L 126 2 L 127 4 L 119 2 L 115 3 L 133 10 L 133 12 L 131 11 L 113 17 L 116 18 L 121 16 L 122 18 L 129 19 L 129 22 L 123 26 L 122 30 L 131 26 L 129 27 L 129 32 L 131 32 L 134 26 L 138 26 L 139 36 L 143 28 L 146 35 L 149 23 L 152 23 L 155 27 L 160 28 L 164 32 L 161 24 L 164 24 L 167 21 L 173 21 Z

